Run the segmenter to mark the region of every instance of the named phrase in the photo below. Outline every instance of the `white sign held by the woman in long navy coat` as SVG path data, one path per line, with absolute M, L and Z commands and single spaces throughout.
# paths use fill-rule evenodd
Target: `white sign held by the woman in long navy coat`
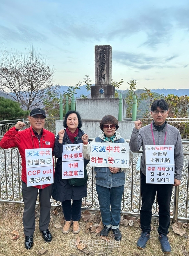
M 62 179 L 84 177 L 82 143 L 63 145 Z

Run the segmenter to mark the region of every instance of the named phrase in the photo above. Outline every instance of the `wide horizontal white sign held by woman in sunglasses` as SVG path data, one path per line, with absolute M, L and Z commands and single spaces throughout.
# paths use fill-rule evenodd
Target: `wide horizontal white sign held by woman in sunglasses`
M 91 143 L 90 166 L 129 168 L 128 143 Z

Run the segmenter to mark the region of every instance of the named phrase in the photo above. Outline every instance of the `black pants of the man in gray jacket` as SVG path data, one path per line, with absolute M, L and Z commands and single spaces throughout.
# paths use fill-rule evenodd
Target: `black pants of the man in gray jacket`
M 172 196 L 172 184 L 146 184 L 146 176 L 141 175 L 141 195 L 142 207 L 140 210 L 140 227 L 143 232 L 148 234 L 151 231 L 152 205 L 157 192 L 157 201 L 159 205 L 159 227 L 158 233 L 167 235 L 170 226 L 170 201 Z

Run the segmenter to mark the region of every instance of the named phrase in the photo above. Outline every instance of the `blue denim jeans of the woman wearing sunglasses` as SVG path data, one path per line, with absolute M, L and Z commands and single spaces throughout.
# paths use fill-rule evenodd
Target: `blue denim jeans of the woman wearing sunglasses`
M 96 185 L 96 190 L 103 224 L 111 225 L 114 229 L 119 227 L 124 185 L 111 189 Z

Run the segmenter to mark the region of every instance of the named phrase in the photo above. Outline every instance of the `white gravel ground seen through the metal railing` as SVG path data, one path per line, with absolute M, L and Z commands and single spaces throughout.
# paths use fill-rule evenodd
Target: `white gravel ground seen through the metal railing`
M 183 145 L 184 152 L 189 152 L 189 145 Z M 123 210 L 129 213 L 137 213 L 140 210 L 140 171 L 136 170 L 136 163 L 138 159 L 136 154 L 133 160 L 133 183 L 131 167 L 127 170 L 125 191 L 124 191 L 124 206 Z M 6 163 L 5 163 L 6 159 Z M 11 163 L 12 160 L 12 163 Z M 189 218 L 189 202 L 188 202 L 188 161 L 189 156 L 184 156 L 184 168 L 181 185 L 179 187 L 179 209 L 178 216 Z M 21 173 L 21 159 L 17 149 L 1 149 L 0 148 L 0 200 L 22 200 L 22 191 L 19 188 L 19 181 Z M 11 167 L 13 166 L 13 168 Z M 19 166 L 19 170 L 18 170 Z M 86 204 L 91 208 L 99 208 L 96 190 L 92 189 L 92 168 L 88 165 L 88 196 Z M 21 183 L 20 183 L 21 184 Z M 94 186 L 95 187 L 95 186 Z M 93 193 L 92 193 L 93 191 Z M 173 189 L 174 191 L 174 189 Z M 20 198 L 21 194 L 21 198 Z M 92 205 L 93 196 L 93 205 Z M 83 198 L 83 205 L 84 205 Z M 56 204 L 56 201 L 51 198 L 51 203 Z M 171 215 L 174 206 L 174 193 L 170 204 Z M 186 209 L 187 208 L 187 209 Z M 153 206 L 153 213 L 156 213 L 156 203 Z

